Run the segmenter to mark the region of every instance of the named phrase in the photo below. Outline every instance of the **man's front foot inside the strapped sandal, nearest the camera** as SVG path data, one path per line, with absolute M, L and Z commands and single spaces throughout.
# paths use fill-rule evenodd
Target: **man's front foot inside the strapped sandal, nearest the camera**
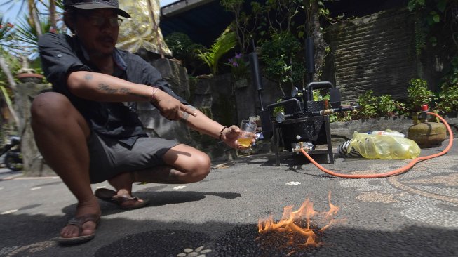
M 76 207 L 75 218 L 83 217 L 88 214 L 92 214 L 93 217 L 100 217 L 100 206 L 97 202 L 97 198 L 93 197 L 88 202 L 81 202 Z M 62 238 L 73 238 L 80 236 L 94 235 L 95 228 L 97 228 L 98 218 L 85 219 L 84 223 L 81 224 L 81 231 L 77 225 L 65 225 L 60 231 L 60 237 Z

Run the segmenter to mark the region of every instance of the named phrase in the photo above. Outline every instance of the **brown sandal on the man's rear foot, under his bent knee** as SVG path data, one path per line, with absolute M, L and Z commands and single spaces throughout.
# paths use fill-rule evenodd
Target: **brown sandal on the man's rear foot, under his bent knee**
M 131 210 L 142 208 L 143 206 L 149 204 L 148 200 L 142 200 L 138 197 L 132 197 L 130 195 L 116 195 L 116 191 L 109 190 L 107 188 L 99 188 L 95 190 L 94 195 L 105 202 L 110 202 L 116 204 L 121 209 Z

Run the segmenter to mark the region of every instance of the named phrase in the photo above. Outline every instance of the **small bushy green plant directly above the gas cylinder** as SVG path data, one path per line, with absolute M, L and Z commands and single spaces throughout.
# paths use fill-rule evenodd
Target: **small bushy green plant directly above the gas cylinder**
M 434 93 L 428 89 L 428 82 L 423 79 L 410 79 L 407 88 L 408 104 L 413 112 L 421 110 L 422 105 L 431 106 L 436 100 Z

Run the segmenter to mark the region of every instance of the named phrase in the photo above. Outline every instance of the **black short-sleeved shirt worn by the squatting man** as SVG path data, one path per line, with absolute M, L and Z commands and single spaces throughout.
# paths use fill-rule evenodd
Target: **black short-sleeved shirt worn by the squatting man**
M 117 138 L 130 146 L 137 138 L 146 136 L 136 114 L 135 103 L 95 102 L 69 92 L 67 74 L 75 71 L 99 72 L 97 67 L 88 61 L 88 55 L 79 43 L 78 37 L 46 33 L 39 39 L 39 53 L 43 72 L 53 85 L 53 91 L 66 95 L 86 118 L 93 131 Z M 116 63 L 113 76 L 136 84 L 158 86 L 184 105 L 188 104 L 186 100 L 175 95 L 159 71 L 140 56 L 115 49 L 113 58 Z

